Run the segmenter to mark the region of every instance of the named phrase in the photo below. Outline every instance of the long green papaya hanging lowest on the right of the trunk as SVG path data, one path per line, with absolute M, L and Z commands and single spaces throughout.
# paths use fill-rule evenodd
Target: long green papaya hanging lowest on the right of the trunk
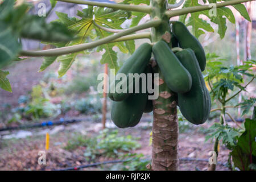
M 192 77 L 191 90 L 177 94 L 181 114 L 195 125 L 203 124 L 209 117 L 211 102 L 196 55 L 187 48 L 177 52 L 176 56 Z

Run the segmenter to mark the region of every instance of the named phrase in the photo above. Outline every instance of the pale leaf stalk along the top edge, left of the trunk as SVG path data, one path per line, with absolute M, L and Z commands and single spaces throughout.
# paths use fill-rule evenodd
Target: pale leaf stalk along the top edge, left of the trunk
M 95 1 L 82 1 L 82 0 L 56 0 L 56 1 L 75 3 L 75 4 L 80 4 L 80 5 L 109 7 L 109 8 L 118 9 L 118 10 L 138 11 L 138 12 L 142 12 L 142 13 L 151 13 L 151 6 L 121 5 L 121 4 L 101 3 L 101 2 L 95 2 Z

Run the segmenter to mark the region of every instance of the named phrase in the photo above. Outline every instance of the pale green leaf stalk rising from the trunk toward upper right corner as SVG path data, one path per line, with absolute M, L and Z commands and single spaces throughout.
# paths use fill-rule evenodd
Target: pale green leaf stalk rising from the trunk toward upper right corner
M 225 1 L 221 3 L 216 3 L 216 7 L 224 7 L 229 5 L 237 5 L 243 2 L 249 2 L 249 1 L 255 1 L 255 0 L 231 0 L 231 1 Z M 171 18 L 174 16 L 180 16 L 188 13 L 195 13 L 197 11 L 204 11 L 212 9 L 212 6 L 209 5 L 202 5 L 202 6 L 193 6 L 193 7 L 185 7 L 183 9 L 179 10 L 172 10 L 172 11 L 166 11 L 166 15 Z

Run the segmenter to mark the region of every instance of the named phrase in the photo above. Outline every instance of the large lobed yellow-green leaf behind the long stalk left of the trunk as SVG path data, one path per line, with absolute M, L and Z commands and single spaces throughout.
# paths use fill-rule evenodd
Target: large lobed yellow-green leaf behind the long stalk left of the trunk
M 76 44 L 92 42 L 95 39 L 102 39 L 106 36 L 113 35 L 112 32 L 107 32 L 96 27 L 94 22 L 107 28 L 122 29 L 122 23 L 131 17 L 131 12 L 129 11 L 114 10 L 108 8 L 105 9 L 103 7 L 93 6 L 88 6 L 86 9 L 77 11 L 77 16 L 80 16 L 81 19 L 71 18 L 67 14 L 60 12 L 56 12 L 56 14 L 59 19 L 55 20 L 55 22 L 64 24 L 68 27 L 68 30 L 74 31 L 74 34 L 77 36 L 77 39 L 68 41 L 65 44 L 61 42 L 51 43 L 56 47 L 73 46 Z M 117 52 L 113 50 L 114 46 L 118 47 L 123 53 L 132 53 L 135 49 L 135 44 L 134 40 L 130 40 L 126 42 L 104 44 L 97 48 L 97 51 L 105 50 L 105 53 L 102 55 L 101 63 L 108 63 L 110 68 L 118 69 Z M 59 77 L 63 76 L 68 71 L 79 53 L 88 53 L 89 51 L 90 50 L 86 50 L 57 57 L 57 61 L 60 61 Z M 49 57 L 48 59 L 45 59 L 40 68 L 40 71 L 43 71 L 49 65 L 51 65 L 54 59 L 55 57 Z

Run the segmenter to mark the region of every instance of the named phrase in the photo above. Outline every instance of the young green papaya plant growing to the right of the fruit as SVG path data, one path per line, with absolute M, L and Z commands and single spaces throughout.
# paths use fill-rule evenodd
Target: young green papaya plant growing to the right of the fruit
M 254 75 L 251 71 L 251 68 L 255 65 L 256 61 L 249 60 L 244 61 L 243 65 L 231 65 L 229 67 L 225 67 L 224 64 L 220 61 L 220 57 L 215 54 L 208 54 L 207 59 L 208 75 L 205 77 L 205 80 L 208 82 L 209 88 L 211 90 L 210 93 L 212 100 L 215 102 L 217 101 L 221 105 L 221 107 L 212 109 L 211 111 L 220 110 L 221 114 L 219 115 L 220 122 L 214 123 L 213 126 L 209 128 L 210 134 L 207 135 L 205 139 L 215 139 L 213 149 L 218 156 L 219 141 L 222 139 L 222 143 L 231 149 L 232 147 L 236 146 L 237 139 L 243 131 L 243 128 L 237 124 L 236 120 L 230 113 L 228 113 L 227 109 L 228 107 L 234 107 L 228 106 L 230 101 L 232 101 L 233 98 L 236 98 L 236 96 L 238 96 L 242 90 L 245 90 L 247 85 L 249 85 L 256 77 L 256 75 Z M 243 82 L 245 82 L 243 76 L 250 77 L 250 80 L 245 86 L 242 86 Z M 244 109 L 243 114 L 245 114 L 250 110 L 249 107 L 254 105 L 254 102 L 255 100 L 248 100 L 238 104 L 238 106 L 242 105 L 242 109 Z M 226 123 L 225 115 L 228 115 L 230 119 L 236 123 L 238 129 L 234 129 Z M 229 164 L 229 166 L 231 166 L 231 164 Z M 216 165 L 211 165 L 209 169 L 215 170 L 215 168 Z

